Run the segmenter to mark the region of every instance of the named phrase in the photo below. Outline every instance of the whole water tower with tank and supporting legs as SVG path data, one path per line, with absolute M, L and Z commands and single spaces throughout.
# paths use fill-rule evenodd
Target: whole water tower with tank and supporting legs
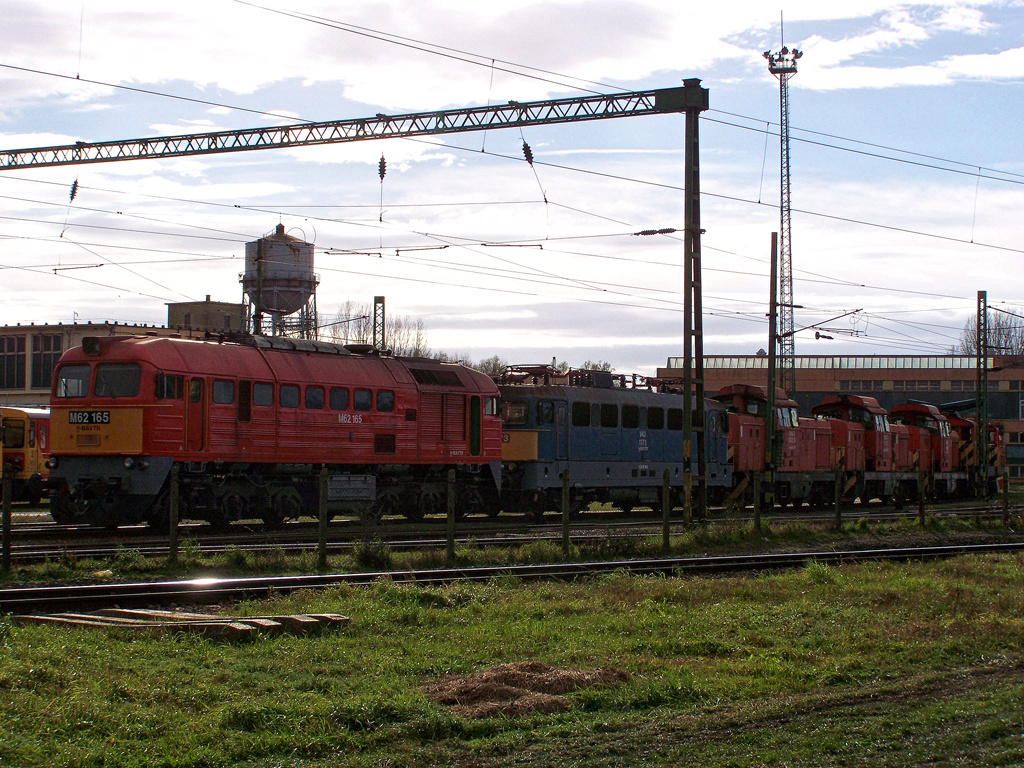
M 246 271 L 241 276 L 246 324 L 256 336 L 316 338 L 316 286 L 313 246 L 285 232 L 246 243 Z

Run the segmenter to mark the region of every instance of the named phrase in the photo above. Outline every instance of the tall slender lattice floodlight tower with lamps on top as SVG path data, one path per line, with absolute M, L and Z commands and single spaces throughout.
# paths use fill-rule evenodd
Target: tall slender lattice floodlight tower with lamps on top
M 768 59 L 768 72 L 778 78 L 779 92 L 779 147 L 780 147 L 780 193 L 779 193 L 779 323 L 778 323 L 778 357 L 780 384 L 786 392 L 797 389 L 797 359 L 794 350 L 796 334 L 793 323 L 793 242 L 790 226 L 790 78 L 797 74 L 797 59 L 803 52 L 785 45 L 778 53 L 766 50 L 764 57 Z M 775 386 L 769 382 L 769 386 Z

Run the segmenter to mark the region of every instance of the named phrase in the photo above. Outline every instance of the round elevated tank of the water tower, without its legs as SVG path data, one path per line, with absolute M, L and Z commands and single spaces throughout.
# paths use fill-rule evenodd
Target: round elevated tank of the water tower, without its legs
M 246 243 L 242 290 L 257 311 L 297 312 L 316 291 L 316 283 L 312 244 L 286 234 L 284 224 L 278 224 L 273 234 Z

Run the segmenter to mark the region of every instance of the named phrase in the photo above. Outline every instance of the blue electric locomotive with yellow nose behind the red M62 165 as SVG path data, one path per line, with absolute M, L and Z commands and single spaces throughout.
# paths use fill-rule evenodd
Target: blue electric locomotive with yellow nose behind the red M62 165
M 541 515 L 561 508 L 568 472 L 570 505 L 610 502 L 626 512 L 659 510 L 664 471 L 672 506 L 682 504 L 683 395 L 657 391 L 643 377 L 603 371 L 560 374 L 546 366 L 506 369 L 502 396 L 502 508 Z M 708 493 L 723 499 L 732 485 L 721 403 L 706 400 Z M 691 434 L 696 451 L 696 436 Z M 692 460 L 696 483 L 696 457 Z

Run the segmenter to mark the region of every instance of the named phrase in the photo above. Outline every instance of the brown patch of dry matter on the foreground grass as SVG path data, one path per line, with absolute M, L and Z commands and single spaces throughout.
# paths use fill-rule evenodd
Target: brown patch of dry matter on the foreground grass
M 466 677 L 445 678 L 421 690 L 457 715 L 485 718 L 568 709 L 566 693 L 629 680 L 622 670 L 561 670 L 540 662 L 505 664 Z

